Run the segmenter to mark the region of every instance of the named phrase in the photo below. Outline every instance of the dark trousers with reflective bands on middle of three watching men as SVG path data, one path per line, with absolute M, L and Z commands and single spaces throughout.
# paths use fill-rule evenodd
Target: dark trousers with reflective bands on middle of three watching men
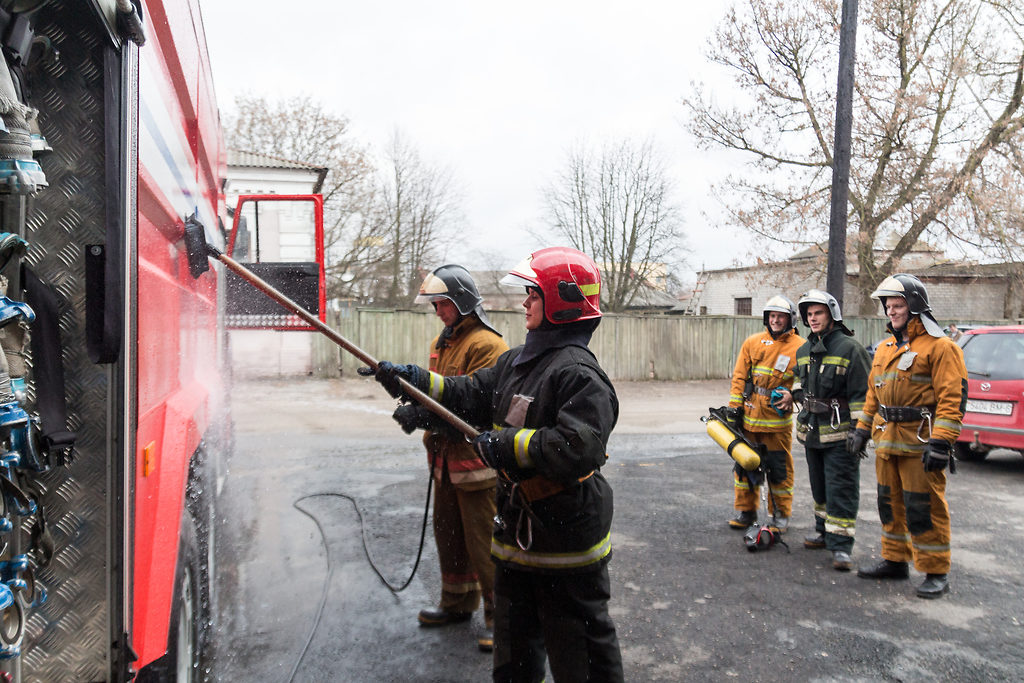
M 825 548 L 849 553 L 860 507 L 860 459 L 847 453 L 845 442 L 804 450 L 814 499 L 814 528 L 824 533 Z

